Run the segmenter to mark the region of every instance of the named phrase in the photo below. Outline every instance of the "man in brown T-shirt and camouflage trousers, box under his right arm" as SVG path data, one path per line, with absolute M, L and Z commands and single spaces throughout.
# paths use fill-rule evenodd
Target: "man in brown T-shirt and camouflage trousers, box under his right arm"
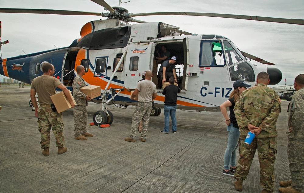
M 63 154 L 67 151 L 65 145 L 65 139 L 63 137 L 63 118 L 62 113 L 58 113 L 57 110 L 53 111 L 51 104 L 51 96 L 55 94 L 55 87 L 60 88 L 67 96 L 68 100 L 71 101 L 72 107 L 75 106 L 70 91 L 55 77 L 54 66 L 47 62 L 42 62 L 43 75 L 34 78 L 31 84 L 30 96 L 35 107 L 35 116 L 38 117 L 38 130 L 41 134 L 41 148 L 43 149 L 42 154 L 44 156 L 49 156 L 50 147 L 50 130 L 56 138 L 56 146 L 58 147 L 58 154 Z M 38 107 L 35 95 L 38 95 L 39 105 Z

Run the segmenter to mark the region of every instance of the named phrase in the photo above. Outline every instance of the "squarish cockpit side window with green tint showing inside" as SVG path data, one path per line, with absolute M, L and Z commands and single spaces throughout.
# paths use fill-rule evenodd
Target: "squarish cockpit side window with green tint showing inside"
M 201 42 L 199 66 L 223 66 L 222 45 L 220 42 Z

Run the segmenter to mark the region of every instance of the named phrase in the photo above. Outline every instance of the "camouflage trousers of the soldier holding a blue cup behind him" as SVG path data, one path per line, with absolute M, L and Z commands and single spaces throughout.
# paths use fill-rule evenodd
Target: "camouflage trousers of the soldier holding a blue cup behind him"
M 250 145 L 244 144 L 246 135 L 239 138 L 239 161 L 234 173 L 236 179 L 247 179 L 255 151 L 260 162 L 260 186 L 274 191 L 274 161 L 277 157 L 277 137 L 254 138 Z

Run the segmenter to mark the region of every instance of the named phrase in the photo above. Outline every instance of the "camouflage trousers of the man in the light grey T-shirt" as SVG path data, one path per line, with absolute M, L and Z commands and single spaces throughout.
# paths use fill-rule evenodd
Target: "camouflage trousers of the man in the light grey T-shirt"
M 136 138 L 137 128 L 140 123 L 140 120 L 142 120 L 141 137 L 143 139 L 146 139 L 147 133 L 148 133 L 151 109 L 152 109 L 152 102 L 147 102 L 147 103 L 138 102 L 136 104 L 136 107 L 135 107 L 135 110 L 133 113 L 132 126 L 131 126 L 130 137 L 132 139 Z

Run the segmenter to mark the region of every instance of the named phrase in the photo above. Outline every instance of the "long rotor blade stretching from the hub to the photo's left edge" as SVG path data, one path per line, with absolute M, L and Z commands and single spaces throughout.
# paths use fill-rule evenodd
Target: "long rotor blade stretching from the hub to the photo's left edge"
M 37 14 L 55 14 L 55 15 L 96 15 L 101 16 L 97 12 L 80 12 L 80 11 L 66 11 L 55 9 L 21 9 L 21 8 L 0 8 L 1 13 L 37 13 Z

